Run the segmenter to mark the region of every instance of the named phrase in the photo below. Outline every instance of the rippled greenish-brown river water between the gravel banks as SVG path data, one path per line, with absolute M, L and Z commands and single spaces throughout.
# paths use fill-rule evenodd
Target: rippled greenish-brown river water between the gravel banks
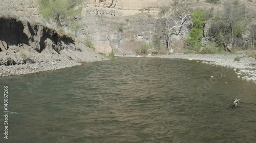
M 256 142 L 256 85 L 232 69 L 118 58 L 4 77 L 0 85 L 0 142 Z M 17 112 L 8 116 L 8 140 L 4 85 Z M 235 98 L 241 103 L 232 109 Z

